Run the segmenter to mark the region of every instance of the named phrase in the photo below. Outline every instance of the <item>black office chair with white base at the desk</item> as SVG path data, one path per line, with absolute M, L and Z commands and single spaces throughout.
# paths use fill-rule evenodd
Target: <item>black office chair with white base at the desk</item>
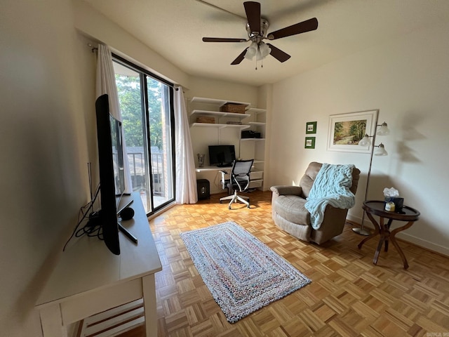
M 229 179 L 225 179 L 226 171 L 220 171 L 222 173 L 222 187 L 223 190 L 227 188 L 229 190 L 229 196 L 220 198 L 220 204 L 224 200 L 231 200 L 228 208 L 231 209 L 233 202 L 241 201 L 246 204 L 248 209 L 250 208 L 250 198 L 237 194 L 238 192 L 246 192 L 250 186 L 250 171 L 253 167 L 254 159 L 249 160 L 234 160 L 232 163 L 232 170 L 229 173 Z M 234 191 L 234 194 L 232 194 Z

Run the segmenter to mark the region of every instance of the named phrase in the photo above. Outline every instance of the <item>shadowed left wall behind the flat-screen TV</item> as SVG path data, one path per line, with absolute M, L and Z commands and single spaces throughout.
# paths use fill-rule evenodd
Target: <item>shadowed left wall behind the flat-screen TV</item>
M 3 1 L 0 32 L 0 335 L 40 336 L 34 303 L 88 201 L 80 41 L 68 0 Z

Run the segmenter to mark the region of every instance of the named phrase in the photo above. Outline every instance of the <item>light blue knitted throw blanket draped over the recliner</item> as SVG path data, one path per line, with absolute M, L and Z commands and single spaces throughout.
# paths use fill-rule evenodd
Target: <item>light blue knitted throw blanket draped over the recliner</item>
M 356 197 L 349 190 L 354 165 L 323 164 L 316 175 L 304 207 L 310 213 L 311 227 L 318 230 L 323 222 L 324 209 L 330 204 L 338 209 L 350 209 Z

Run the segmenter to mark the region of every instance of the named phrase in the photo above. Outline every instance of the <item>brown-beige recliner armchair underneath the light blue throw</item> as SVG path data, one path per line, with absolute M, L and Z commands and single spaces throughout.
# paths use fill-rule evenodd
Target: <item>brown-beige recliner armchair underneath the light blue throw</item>
M 281 229 L 298 239 L 322 244 L 343 232 L 348 209 L 328 204 L 319 229 L 311 225 L 310 213 L 304 207 L 316 175 L 323 164 L 311 162 L 299 186 L 272 186 L 272 218 Z M 360 170 L 352 169 L 352 185 L 349 190 L 356 194 Z

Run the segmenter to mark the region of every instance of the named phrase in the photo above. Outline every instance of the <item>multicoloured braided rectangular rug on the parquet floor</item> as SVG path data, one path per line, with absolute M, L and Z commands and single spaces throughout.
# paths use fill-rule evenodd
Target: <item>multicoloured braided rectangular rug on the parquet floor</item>
M 234 222 L 182 232 L 180 237 L 229 323 L 311 282 Z

